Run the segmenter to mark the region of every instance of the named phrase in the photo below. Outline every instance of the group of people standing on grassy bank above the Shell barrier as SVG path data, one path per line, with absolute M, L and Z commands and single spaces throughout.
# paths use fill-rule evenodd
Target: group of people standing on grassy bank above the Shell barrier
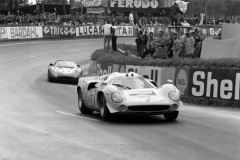
M 182 34 L 180 30 L 170 33 L 159 30 L 158 37 L 154 37 L 153 32 L 148 33 L 140 26 L 135 42 L 139 57 L 145 58 L 146 55 L 151 54 L 154 59 L 167 59 L 200 57 L 203 40 L 204 37 L 197 28 L 185 34 Z

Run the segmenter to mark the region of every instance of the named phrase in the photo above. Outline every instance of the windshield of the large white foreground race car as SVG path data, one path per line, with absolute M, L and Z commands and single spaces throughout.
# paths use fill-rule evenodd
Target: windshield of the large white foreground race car
M 129 88 L 129 89 L 144 89 L 144 88 L 154 88 L 145 78 L 140 76 L 127 77 L 119 76 L 109 81 L 108 84 L 116 85 L 118 87 Z

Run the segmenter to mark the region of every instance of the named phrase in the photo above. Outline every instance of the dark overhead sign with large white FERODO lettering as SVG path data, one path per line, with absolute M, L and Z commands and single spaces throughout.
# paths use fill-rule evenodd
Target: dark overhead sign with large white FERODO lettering
M 110 0 L 111 11 L 158 12 L 158 0 Z

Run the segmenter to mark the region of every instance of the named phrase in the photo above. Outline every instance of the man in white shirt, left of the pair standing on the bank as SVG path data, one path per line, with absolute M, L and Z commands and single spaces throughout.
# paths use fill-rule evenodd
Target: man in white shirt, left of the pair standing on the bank
M 111 27 L 110 21 L 103 26 L 104 31 L 104 51 L 110 51 L 110 40 L 111 40 Z M 107 46 L 106 46 L 107 45 Z

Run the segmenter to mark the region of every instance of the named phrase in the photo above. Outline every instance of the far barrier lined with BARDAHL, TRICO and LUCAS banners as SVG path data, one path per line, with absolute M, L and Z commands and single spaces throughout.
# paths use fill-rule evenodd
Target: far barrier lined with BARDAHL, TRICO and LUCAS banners
M 168 33 L 175 30 L 174 27 L 163 25 L 143 26 L 144 30 L 153 32 L 158 36 L 158 31 L 163 30 Z M 192 29 L 198 28 L 200 34 L 205 37 L 216 37 L 221 31 L 221 26 L 193 26 Z M 186 27 L 180 28 L 182 33 L 187 32 Z M 118 26 L 117 34 L 122 37 L 136 36 L 138 28 L 136 26 Z M 103 36 L 103 26 L 98 25 L 79 25 L 79 26 L 4 26 L 0 27 L 0 40 L 15 39 L 49 39 L 49 38 L 83 38 Z

